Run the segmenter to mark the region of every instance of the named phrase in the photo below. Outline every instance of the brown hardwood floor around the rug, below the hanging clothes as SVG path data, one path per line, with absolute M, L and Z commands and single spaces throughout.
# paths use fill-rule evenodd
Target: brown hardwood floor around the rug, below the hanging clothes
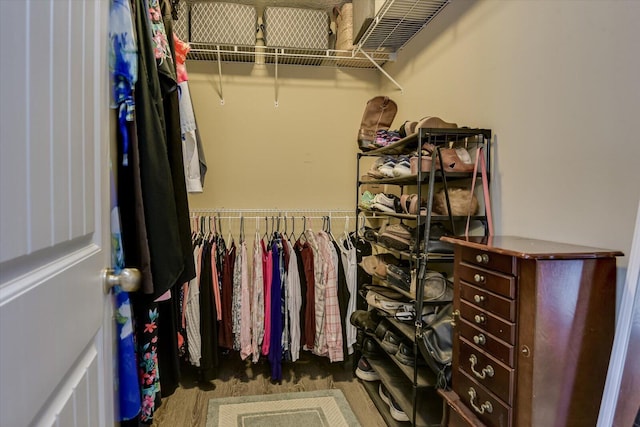
M 223 356 L 220 363 L 218 378 L 206 383 L 199 383 L 194 369 L 183 366 L 180 387 L 162 399 L 152 425 L 204 427 L 209 399 L 215 397 L 337 388 L 344 393 L 362 426 L 386 426 L 360 380 L 352 374 L 351 359 L 344 363 L 329 363 L 327 358 L 302 353 L 301 360 L 283 364 L 280 383 L 271 381 L 269 363 L 264 359 L 254 365 L 241 361 L 237 353 L 232 353 Z

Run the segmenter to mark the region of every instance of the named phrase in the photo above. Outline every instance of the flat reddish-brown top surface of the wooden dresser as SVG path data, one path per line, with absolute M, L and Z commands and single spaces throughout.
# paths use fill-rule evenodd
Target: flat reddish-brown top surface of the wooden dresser
M 550 242 L 519 236 L 445 236 L 441 240 L 455 245 L 524 259 L 611 258 L 624 255 L 620 251 L 611 249 Z

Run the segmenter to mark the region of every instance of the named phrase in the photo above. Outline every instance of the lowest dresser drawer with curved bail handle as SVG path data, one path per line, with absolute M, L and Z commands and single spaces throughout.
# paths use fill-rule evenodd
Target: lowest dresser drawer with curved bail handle
M 464 371 L 458 371 L 456 378 L 453 391 L 480 421 L 490 427 L 511 426 L 511 407 L 476 383 Z

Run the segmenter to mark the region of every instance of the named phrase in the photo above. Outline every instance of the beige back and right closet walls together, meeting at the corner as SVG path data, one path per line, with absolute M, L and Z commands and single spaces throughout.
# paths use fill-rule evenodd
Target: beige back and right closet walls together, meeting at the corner
M 353 208 L 366 100 L 394 126 L 493 129 L 498 233 L 630 252 L 640 141 L 638 1 L 456 0 L 379 73 L 188 64 L 209 173 L 191 208 Z M 382 84 L 383 89 L 379 88 Z M 626 264 L 626 258 L 622 264 Z

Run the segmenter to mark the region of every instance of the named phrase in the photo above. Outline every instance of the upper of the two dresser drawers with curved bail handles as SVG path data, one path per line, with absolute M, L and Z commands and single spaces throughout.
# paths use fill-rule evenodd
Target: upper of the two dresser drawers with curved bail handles
M 513 369 L 503 365 L 465 340 L 460 340 L 460 369 L 502 399 L 513 403 Z

